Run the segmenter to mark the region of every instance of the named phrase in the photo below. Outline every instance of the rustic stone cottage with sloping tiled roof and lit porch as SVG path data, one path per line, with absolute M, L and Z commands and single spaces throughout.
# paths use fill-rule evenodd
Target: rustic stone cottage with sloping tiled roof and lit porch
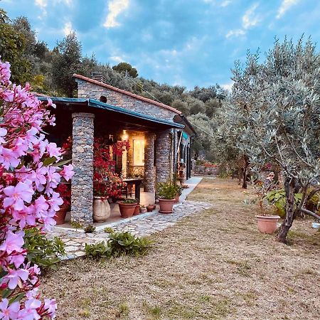
M 141 178 L 144 193 L 150 196 L 154 197 L 157 182 L 168 181 L 174 174 L 183 179 L 191 176 L 195 132 L 180 111 L 107 85 L 102 77 L 73 78 L 78 98 L 51 97 L 57 105 L 57 125 L 49 132 L 60 145 L 73 137 L 72 220 L 92 223 L 93 140 L 101 134 L 115 142 L 129 140 L 129 150 L 117 159 L 117 173 L 124 179 Z

